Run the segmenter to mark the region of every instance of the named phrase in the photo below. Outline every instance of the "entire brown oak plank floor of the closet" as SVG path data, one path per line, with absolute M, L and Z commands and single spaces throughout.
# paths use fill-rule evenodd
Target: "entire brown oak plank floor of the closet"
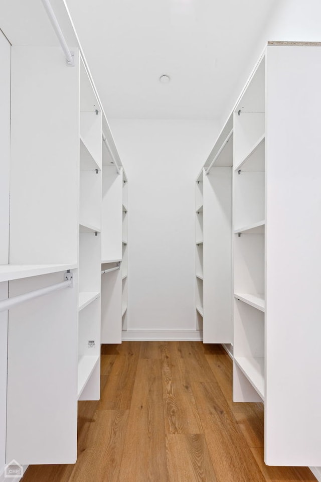
M 263 405 L 232 402 L 221 345 L 103 345 L 100 402 L 79 402 L 75 465 L 32 465 L 23 482 L 296 482 L 263 462 Z

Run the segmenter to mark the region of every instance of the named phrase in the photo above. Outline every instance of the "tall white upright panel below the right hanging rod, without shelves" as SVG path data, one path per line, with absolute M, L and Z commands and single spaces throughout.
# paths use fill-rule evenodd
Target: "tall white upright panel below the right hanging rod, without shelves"
M 205 343 L 232 342 L 232 169 L 203 176 Z

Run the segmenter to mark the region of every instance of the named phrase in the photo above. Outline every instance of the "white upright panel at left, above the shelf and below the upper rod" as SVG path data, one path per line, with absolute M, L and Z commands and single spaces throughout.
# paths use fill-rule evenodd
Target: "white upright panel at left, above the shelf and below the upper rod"
M 12 47 L 10 262 L 77 262 L 79 69 Z

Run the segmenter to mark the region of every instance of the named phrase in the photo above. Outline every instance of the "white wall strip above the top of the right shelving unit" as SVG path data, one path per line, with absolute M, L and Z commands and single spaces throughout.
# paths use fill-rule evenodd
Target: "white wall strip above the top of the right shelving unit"
M 279 0 L 276 5 L 277 7 L 261 29 L 257 42 L 249 51 L 244 69 L 235 76 L 235 87 L 226 101 L 226 108 L 222 112 L 219 126 L 223 126 L 226 121 L 267 41 L 321 41 L 320 0 L 304 0 L 304 2 L 302 0 Z

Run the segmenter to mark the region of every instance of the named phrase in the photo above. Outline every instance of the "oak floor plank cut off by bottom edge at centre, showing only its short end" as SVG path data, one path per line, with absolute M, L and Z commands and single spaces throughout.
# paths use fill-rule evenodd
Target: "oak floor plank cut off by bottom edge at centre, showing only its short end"
M 216 482 L 204 434 L 166 436 L 168 481 Z

